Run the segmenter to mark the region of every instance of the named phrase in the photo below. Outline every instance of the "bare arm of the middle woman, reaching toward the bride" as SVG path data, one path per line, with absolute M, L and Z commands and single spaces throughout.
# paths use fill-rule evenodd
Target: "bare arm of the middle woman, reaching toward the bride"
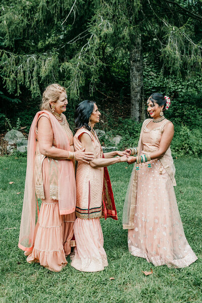
M 80 136 L 80 141 L 82 143 L 82 147 L 85 148 L 86 151 L 91 151 L 94 155 L 94 159 L 92 161 L 90 161 L 90 166 L 92 167 L 106 167 L 118 162 L 126 162 L 127 161 L 127 157 L 120 157 L 120 158 L 109 158 L 109 159 L 105 159 L 105 158 L 96 158 L 96 153 L 94 150 L 94 147 L 92 145 L 92 141 L 90 136 L 87 133 L 83 133 Z M 110 153 L 107 153 L 110 154 Z

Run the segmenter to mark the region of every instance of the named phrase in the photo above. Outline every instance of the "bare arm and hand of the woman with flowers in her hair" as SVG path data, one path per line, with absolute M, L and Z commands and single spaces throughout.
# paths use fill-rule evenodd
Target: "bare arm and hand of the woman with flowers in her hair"
M 155 151 L 154 153 L 150 154 L 151 160 L 161 158 L 165 155 L 166 150 L 170 146 L 170 143 L 174 136 L 174 126 L 173 123 L 169 122 L 165 125 L 164 132 L 161 137 L 159 149 Z M 136 157 L 130 157 L 128 163 L 132 164 L 136 162 Z

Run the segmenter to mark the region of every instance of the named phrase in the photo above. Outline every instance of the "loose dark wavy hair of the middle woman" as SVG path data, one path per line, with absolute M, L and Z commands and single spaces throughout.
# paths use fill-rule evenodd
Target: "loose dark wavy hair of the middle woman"
M 76 132 L 79 128 L 84 126 L 87 130 L 91 130 L 88 125 L 90 115 L 93 112 L 95 102 L 90 100 L 84 100 L 76 107 L 76 111 L 74 114 L 74 121 L 76 127 L 74 131 Z

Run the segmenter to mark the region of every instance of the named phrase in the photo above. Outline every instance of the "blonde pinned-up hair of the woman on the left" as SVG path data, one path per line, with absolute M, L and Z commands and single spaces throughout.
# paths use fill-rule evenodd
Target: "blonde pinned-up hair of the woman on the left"
M 57 100 L 60 98 L 61 92 L 63 91 L 66 92 L 65 87 L 61 86 L 58 83 L 48 85 L 42 95 L 40 110 L 51 112 L 50 102 L 57 102 Z

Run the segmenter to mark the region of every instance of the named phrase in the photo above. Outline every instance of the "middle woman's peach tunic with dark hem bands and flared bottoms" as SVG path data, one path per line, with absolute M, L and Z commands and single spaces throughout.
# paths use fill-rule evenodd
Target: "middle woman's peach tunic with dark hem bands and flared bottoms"
M 95 134 L 84 127 L 74 136 L 75 150 L 82 149 L 79 136 L 87 133 L 94 147 L 96 157 L 102 158 L 103 151 Z M 99 218 L 102 216 L 104 168 L 92 168 L 79 162 L 76 171 L 76 216 L 74 235 L 77 246 L 74 249 L 71 266 L 79 271 L 96 272 L 108 266 L 103 247 L 104 239 Z

